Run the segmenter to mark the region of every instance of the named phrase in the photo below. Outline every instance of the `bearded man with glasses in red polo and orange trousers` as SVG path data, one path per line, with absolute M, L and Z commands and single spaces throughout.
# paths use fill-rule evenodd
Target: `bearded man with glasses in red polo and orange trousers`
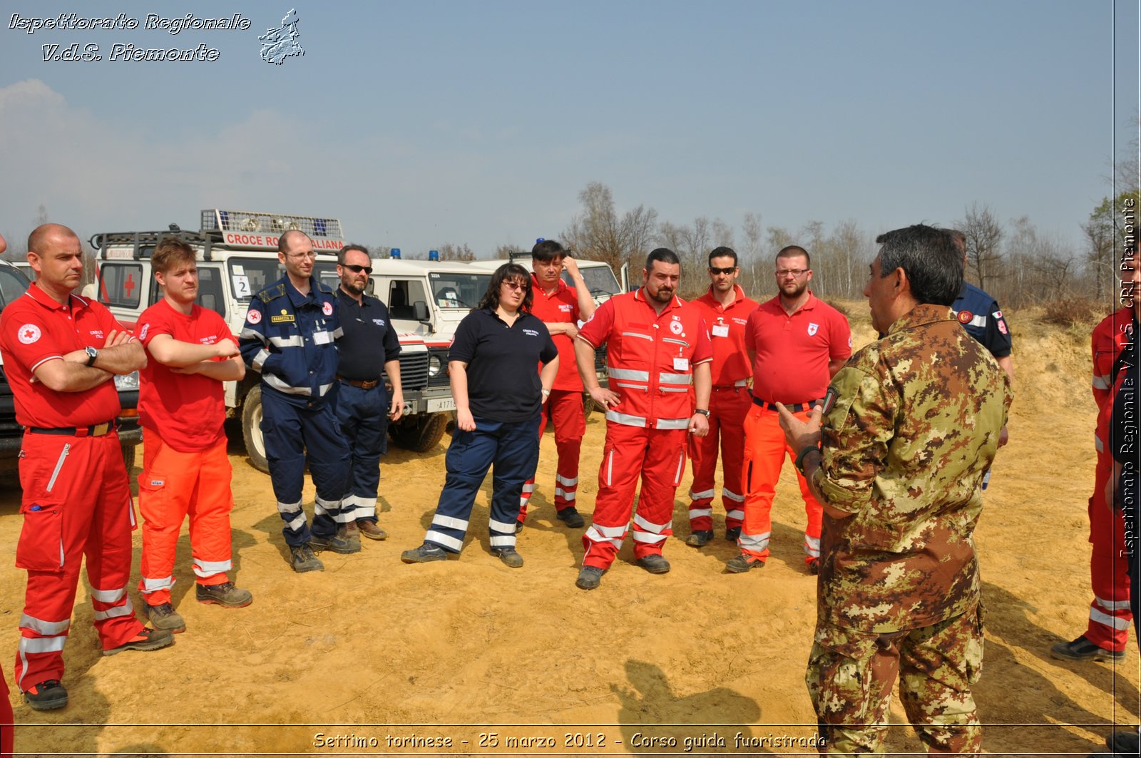
M 828 380 L 852 352 L 851 330 L 843 314 L 818 300 L 808 289 L 812 281 L 808 251 L 788 245 L 777 253 L 777 296 L 761 304 L 745 324 L 745 350 L 753 366 L 753 406 L 745 417 L 745 523 L 737 545 L 741 555 L 726 568 L 745 573 L 764 565 L 772 533 L 772 497 L 785 453 L 796 451 L 785 443 L 777 403 L 800 419 L 824 397 Z M 820 561 L 820 503 L 796 474 L 808 525 L 804 529 L 804 563 L 816 573 Z

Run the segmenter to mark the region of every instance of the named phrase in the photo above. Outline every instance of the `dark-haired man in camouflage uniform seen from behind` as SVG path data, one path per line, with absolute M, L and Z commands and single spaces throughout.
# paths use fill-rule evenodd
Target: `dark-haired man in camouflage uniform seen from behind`
M 982 607 L 972 533 L 1010 381 L 952 314 L 963 266 L 949 236 L 912 226 L 876 242 L 864 295 L 885 336 L 833 377 L 823 428 L 822 409 L 807 424 L 780 409 L 824 505 L 806 682 L 828 755 L 882 753 L 897 672 L 928 750 L 976 753 Z

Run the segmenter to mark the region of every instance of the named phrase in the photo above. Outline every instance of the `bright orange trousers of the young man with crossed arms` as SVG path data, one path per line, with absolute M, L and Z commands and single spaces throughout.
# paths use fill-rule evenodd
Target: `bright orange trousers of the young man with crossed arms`
M 139 590 L 148 605 L 170 603 L 175 583 L 175 547 L 191 517 L 191 556 L 200 584 L 221 584 L 230 570 L 229 511 L 234 508 L 233 471 L 222 440 L 209 450 L 184 453 L 143 429 L 143 561 Z

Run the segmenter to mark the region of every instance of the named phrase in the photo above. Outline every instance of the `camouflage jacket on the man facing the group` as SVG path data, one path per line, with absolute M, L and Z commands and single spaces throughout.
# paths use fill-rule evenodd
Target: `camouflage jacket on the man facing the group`
M 916 306 L 833 377 L 814 483 L 851 516 L 824 516 L 819 621 L 882 634 L 974 607 L 979 484 L 1011 397 L 946 306 Z

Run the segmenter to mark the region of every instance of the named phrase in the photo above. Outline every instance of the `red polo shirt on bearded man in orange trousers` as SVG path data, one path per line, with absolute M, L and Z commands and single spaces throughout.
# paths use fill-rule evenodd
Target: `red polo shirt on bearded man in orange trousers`
M 828 390 L 828 362 L 852 354 L 844 315 L 809 291 L 791 316 L 780 296 L 762 303 L 745 324 L 745 348 L 756 352 L 753 396 L 770 403 L 807 403 Z

